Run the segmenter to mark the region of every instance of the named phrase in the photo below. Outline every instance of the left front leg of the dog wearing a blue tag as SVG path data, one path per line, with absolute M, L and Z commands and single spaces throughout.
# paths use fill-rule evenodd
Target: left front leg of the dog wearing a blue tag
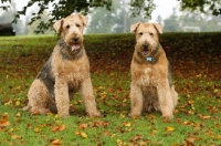
M 134 84 L 133 82 L 130 85 L 130 102 L 131 102 L 130 103 L 131 112 L 129 116 L 138 117 L 143 111 L 143 92 L 141 92 L 140 86 L 138 86 L 137 84 Z

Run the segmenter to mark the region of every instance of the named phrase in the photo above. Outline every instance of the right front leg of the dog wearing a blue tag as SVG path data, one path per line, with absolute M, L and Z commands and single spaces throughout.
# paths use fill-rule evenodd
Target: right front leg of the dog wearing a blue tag
M 162 113 L 162 117 L 168 119 L 173 118 L 172 111 L 173 111 L 173 101 L 169 87 L 169 83 L 167 80 L 160 82 L 157 85 L 157 93 L 159 97 L 159 107 Z

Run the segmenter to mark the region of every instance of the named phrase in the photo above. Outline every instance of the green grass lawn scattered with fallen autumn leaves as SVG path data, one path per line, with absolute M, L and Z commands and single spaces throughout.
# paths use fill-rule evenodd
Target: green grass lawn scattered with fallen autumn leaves
M 175 35 L 178 41 L 169 43 Z M 187 34 L 161 36 L 179 93 L 172 121 L 162 119 L 160 113 L 144 114 L 137 119 L 128 117 L 131 34 L 119 35 L 126 40 L 119 40 L 118 35 L 96 35 L 94 40 L 85 36 L 96 102 L 103 115 L 99 118 L 85 115 L 78 94 L 72 101 L 72 114 L 67 118 L 22 112 L 28 102 L 27 92 L 57 39 L 0 38 L 0 145 L 220 145 L 221 53 L 219 43 L 208 41 L 218 34 L 192 35 L 194 41 L 200 38 L 189 46 L 194 50 L 188 50 L 183 43 L 189 41 Z M 210 36 L 208 43 L 197 48 L 204 35 Z M 106 42 L 106 51 L 101 51 L 101 39 L 112 40 Z M 113 44 L 116 40 L 118 43 Z M 123 45 L 124 41 L 131 43 Z M 95 46 L 98 53 L 93 52 Z

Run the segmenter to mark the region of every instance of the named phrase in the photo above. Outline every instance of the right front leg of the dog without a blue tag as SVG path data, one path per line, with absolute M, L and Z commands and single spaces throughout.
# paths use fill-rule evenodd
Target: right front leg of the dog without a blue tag
M 81 93 L 88 116 L 101 116 L 101 113 L 96 108 L 96 102 L 93 93 L 92 81 L 90 77 L 82 82 Z

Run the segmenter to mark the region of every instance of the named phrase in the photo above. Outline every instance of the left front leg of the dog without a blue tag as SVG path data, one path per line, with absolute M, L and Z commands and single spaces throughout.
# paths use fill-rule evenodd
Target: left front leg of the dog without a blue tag
M 61 117 L 70 116 L 70 98 L 69 98 L 69 85 L 66 81 L 62 79 L 55 79 L 55 102 L 57 107 L 57 113 Z

